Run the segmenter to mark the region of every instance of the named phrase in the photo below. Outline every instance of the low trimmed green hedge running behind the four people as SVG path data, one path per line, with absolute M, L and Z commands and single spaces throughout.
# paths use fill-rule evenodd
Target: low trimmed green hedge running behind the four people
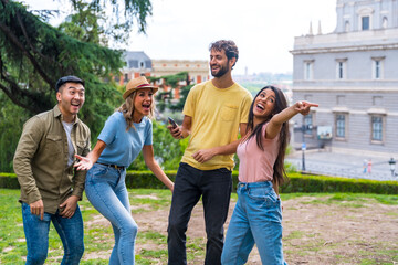
M 174 181 L 177 171 L 169 170 L 165 173 Z M 375 194 L 398 194 L 398 181 L 378 181 L 365 179 L 348 179 L 339 177 L 326 177 L 302 174 L 298 172 L 287 173 L 289 180 L 284 183 L 281 193 L 294 192 L 352 192 Z M 238 171 L 232 172 L 233 191 L 238 183 Z M 166 187 L 150 171 L 127 171 L 126 186 L 130 189 L 166 189 Z M 14 173 L 0 173 L 0 188 L 19 189 Z

